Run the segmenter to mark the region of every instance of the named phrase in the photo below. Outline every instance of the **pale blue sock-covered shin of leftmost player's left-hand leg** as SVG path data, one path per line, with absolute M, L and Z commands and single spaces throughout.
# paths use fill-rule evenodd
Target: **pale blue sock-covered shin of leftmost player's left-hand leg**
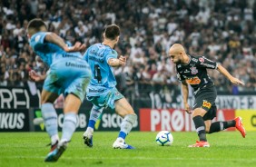
M 43 103 L 41 110 L 42 116 L 44 118 L 46 132 L 51 137 L 51 143 L 53 145 L 54 143 L 59 141 L 57 113 L 54 109 L 53 103 Z

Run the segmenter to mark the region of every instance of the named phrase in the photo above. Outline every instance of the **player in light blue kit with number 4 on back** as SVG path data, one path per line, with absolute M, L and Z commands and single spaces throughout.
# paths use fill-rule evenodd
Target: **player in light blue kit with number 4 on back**
M 120 28 L 117 25 L 108 25 L 103 33 L 103 43 L 90 46 L 84 54 L 84 59 L 90 65 L 93 78 L 87 89 L 86 98 L 94 104 L 88 127 L 84 132 L 84 143 L 93 146 L 94 124 L 103 112 L 103 108 L 111 108 L 121 117 L 121 131 L 118 138 L 113 142 L 114 149 L 133 149 L 133 146 L 124 142 L 124 139 L 137 121 L 137 115 L 133 107 L 119 93 L 115 87 L 116 80 L 113 75 L 113 67 L 124 65 L 125 57 L 117 58 L 117 53 L 113 50 L 119 41 Z

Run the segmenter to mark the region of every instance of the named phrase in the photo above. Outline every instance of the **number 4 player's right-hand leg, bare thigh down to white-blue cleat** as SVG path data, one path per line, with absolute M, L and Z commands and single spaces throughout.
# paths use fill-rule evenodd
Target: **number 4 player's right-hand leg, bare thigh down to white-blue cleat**
M 113 142 L 113 148 L 133 149 L 133 147 L 126 144 L 124 140 L 126 135 L 131 132 L 133 124 L 136 123 L 137 115 L 134 113 L 131 104 L 128 103 L 124 97 L 115 101 L 114 105 L 115 112 L 123 117 L 123 121 L 121 123 L 121 130 L 118 138 Z

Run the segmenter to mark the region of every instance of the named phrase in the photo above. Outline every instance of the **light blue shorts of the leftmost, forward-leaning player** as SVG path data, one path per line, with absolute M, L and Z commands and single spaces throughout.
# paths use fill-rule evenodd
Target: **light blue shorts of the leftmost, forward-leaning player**
M 64 97 L 73 93 L 83 102 L 91 76 L 91 70 L 83 59 L 64 59 L 51 65 L 43 88 L 50 93 L 64 93 Z

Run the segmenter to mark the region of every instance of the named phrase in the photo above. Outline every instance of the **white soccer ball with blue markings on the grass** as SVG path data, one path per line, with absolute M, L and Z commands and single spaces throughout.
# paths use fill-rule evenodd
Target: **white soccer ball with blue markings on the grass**
M 173 142 L 172 133 L 168 131 L 161 131 L 160 133 L 157 133 L 155 137 L 155 142 L 158 145 L 162 145 L 162 146 L 172 145 L 172 142 Z

